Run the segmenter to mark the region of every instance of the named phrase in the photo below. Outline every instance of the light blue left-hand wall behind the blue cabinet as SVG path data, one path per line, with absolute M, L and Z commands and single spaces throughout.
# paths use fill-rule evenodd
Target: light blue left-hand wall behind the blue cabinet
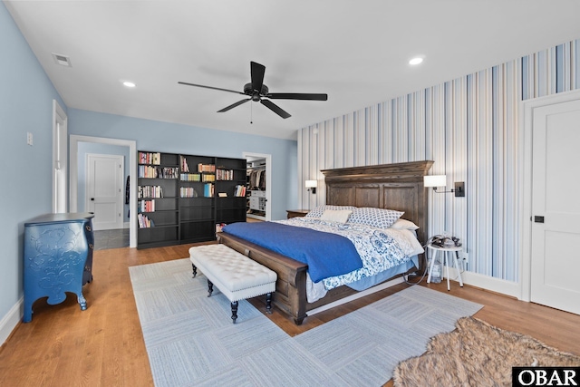
M 0 3 L 0 323 L 23 295 L 24 221 L 52 212 L 53 100 L 63 101 Z M 65 110 L 66 111 L 66 110 Z M 26 133 L 34 145 L 26 145 Z

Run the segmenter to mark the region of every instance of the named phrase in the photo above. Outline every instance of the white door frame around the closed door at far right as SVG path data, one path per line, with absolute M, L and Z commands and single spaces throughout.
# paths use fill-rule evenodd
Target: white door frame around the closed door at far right
M 520 204 L 522 237 L 520 251 L 521 262 L 519 269 L 520 296 L 523 301 L 531 300 L 531 276 L 532 276 L 532 137 L 534 129 L 534 110 L 548 105 L 554 105 L 563 102 L 580 100 L 580 90 L 570 92 L 558 92 L 557 94 L 547 95 L 545 97 L 535 98 L 521 102 L 523 120 L 521 125 L 520 144 L 523 150 L 522 177 L 520 178 L 521 187 L 518 195 Z

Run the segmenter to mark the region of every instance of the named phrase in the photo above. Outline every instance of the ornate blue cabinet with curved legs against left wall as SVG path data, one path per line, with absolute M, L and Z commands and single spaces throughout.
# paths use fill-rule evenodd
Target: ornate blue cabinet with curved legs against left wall
M 82 285 L 92 281 L 94 235 L 91 213 L 46 214 L 24 222 L 24 323 L 34 301 L 62 303 L 66 292 L 87 308 Z

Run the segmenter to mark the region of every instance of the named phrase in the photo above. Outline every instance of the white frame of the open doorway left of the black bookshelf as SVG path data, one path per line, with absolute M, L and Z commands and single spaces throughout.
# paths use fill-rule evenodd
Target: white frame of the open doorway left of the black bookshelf
M 69 160 L 69 197 L 71 212 L 76 212 L 78 208 L 77 180 L 79 176 L 76 160 L 79 157 L 79 142 L 95 142 L 107 145 L 119 145 L 129 147 L 129 208 L 131 214 L 137 214 L 137 141 L 108 139 L 104 137 L 80 136 L 71 134 Z M 129 247 L 137 247 L 137 222 L 134 219 L 129 221 Z

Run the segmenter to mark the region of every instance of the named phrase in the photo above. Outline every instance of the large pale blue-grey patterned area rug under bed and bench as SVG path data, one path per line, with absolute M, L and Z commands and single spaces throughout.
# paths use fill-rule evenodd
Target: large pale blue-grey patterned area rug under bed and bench
M 131 266 L 155 385 L 381 386 L 401 360 L 424 353 L 482 305 L 411 286 L 291 337 L 243 301 L 230 303 L 189 258 Z

